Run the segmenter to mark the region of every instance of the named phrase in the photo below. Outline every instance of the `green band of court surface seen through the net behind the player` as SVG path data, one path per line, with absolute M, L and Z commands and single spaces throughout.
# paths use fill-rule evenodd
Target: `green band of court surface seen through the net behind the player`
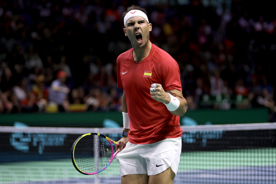
M 178 172 L 201 169 L 227 169 L 245 166 L 276 166 L 276 148 L 244 149 L 181 153 Z M 114 160 L 99 177 L 120 176 L 119 164 Z M 55 181 L 63 178 L 93 178 L 83 175 L 71 159 L 1 163 L 0 183 L 16 181 Z

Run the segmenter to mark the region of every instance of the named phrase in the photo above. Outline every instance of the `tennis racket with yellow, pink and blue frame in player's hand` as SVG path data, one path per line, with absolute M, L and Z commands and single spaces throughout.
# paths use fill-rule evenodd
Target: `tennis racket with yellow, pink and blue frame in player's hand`
M 114 153 L 112 143 L 120 145 L 99 133 L 87 133 L 78 137 L 71 150 L 76 170 L 84 175 L 95 175 L 105 170 L 118 153 Z

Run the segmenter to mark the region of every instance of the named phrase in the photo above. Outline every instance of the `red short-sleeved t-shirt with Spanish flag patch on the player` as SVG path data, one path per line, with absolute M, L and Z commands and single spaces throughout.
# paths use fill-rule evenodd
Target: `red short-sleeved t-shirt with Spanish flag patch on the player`
M 182 91 L 179 66 L 173 57 L 152 44 L 150 54 L 136 63 L 130 49 L 117 58 L 117 78 L 118 87 L 126 94 L 129 142 L 150 144 L 182 136 L 179 116 L 170 114 L 163 103 L 150 95 L 153 83 L 161 84 L 165 91 Z

